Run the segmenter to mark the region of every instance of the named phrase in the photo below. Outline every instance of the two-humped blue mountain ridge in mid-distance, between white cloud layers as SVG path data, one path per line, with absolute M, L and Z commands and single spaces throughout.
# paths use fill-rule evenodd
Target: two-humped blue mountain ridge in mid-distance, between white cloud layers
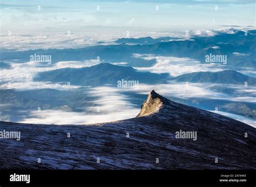
M 35 81 L 67 83 L 83 86 L 101 86 L 105 84 L 117 87 L 118 81 L 139 81 L 139 83 L 166 83 L 167 80 L 192 83 L 219 83 L 256 85 L 256 78 L 238 73 L 234 70 L 218 72 L 201 71 L 170 77 L 169 74 L 141 72 L 132 67 L 100 63 L 85 68 L 63 68 L 39 73 Z

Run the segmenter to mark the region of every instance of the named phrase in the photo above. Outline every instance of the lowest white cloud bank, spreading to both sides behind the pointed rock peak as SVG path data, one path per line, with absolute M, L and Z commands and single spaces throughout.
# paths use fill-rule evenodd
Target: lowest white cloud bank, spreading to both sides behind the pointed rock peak
M 127 92 L 139 93 L 148 95 L 151 90 L 155 90 L 164 97 L 176 97 L 182 99 L 219 99 L 231 100 L 236 102 L 251 102 L 255 103 L 255 97 L 232 97 L 224 93 L 218 93 L 209 89 L 212 84 L 199 84 L 199 83 L 175 83 L 148 85 L 140 84 L 139 89 L 119 89 L 111 87 L 96 87 L 89 88 L 85 91 L 86 96 L 95 96 L 98 99 L 92 100 L 94 104 L 91 107 L 86 107 L 86 112 L 68 112 L 61 110 L 42 110 L 41 112 L 31 111 L 29 118 L 25 118 L 22 123 L 36 123 L 36 124 L 91 124 L 103 123 L 107 121 L 115 121 L 133 118 L 139 113 L 140 107 L 132 104 L 131 100 L 136 99 Z M 238 89 L 244 87 L 234 86 Z M 256 88 L 248 90 L 248 92 L 255 91 Z M 228 114 L 232 117 L 232 114 Z M 224 116 L 227 116 L 225 114 Z M 238 119 L 239 116 L 232 118 Z M 242 120 L 241 120 L 242 119 Z M 252 124 L 252 120 L 241 118 L 238 120 L 247 124 Z

